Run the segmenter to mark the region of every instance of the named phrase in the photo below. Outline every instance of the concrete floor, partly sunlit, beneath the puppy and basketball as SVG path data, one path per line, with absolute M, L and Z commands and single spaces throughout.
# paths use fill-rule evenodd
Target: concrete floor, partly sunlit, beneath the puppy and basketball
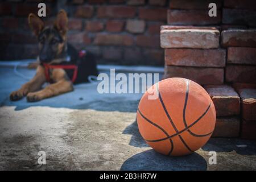
M 35 71 L 19 69 L 31 77 Z M 36 103 L 9 101 L 24 80 L 0 68 L 0 170 L 255 170 L 256 142 L 212 138 L 183 157 L 157 154 L 135 122 L 141 94 L 98 94 L 97 84 Z M 246 144 L 246 148 L 237 145 Z M 217 152 L 217 165 L 208 163 Z M 46 165 L 38 152 L 46 152 Z

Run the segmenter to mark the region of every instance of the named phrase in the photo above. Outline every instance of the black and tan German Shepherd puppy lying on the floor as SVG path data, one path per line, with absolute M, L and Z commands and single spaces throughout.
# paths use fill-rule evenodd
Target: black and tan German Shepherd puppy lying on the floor
M 74 73 L 72 70 L 61 68 L 49 69 L 48 77 L 52 84 L 42 89 L 42 85 L 47 81 L 45 64 L 77 65 L 75 84 L 88 81 L 89 75 L 98 75 L 92 53 L 86 52 L 81 58 L 79 52 L 67 43 L 68 16 L 64 10 L 59 12 L 52 27 L 44 26 L 44 22 L 35 14 L 28 16 L 28 24 L 38 38 L 40 64 L 36 69 L 36 75 L 19 90 L 11 93 L 10 100 L 17 101 L 27 97 L 28 102 L 36 102 L 73 90 L 71 78 Z

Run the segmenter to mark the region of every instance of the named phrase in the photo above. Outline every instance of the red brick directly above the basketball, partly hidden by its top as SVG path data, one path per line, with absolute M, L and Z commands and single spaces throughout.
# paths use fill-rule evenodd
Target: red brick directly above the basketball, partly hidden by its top
M 164 78 L 184 77 L 201 85 L 221 85 L 224 82 L 223 68 L 164 67 Z

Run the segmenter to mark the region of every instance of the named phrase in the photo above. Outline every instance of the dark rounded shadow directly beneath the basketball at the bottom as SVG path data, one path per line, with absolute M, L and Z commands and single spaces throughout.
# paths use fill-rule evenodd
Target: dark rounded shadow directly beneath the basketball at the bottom
M 122 171 L 202 171 L 207 169 L 205 159 L 193 153 L 187 156 L 166 156 L 147 150 L 131 156 L 121 167 Z

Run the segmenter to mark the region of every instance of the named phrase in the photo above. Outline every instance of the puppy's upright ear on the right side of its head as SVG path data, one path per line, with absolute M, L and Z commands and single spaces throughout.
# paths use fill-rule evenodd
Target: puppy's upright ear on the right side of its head
M 59 30 L 62 35 L 68 31 L 68 15 L 65 10 L 59 11 L 54 27 Z

